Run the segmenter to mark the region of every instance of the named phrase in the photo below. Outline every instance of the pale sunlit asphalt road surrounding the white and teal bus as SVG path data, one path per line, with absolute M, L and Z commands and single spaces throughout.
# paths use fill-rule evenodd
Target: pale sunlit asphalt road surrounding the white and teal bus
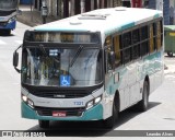
M 37 120 L 21 118 L 20 74 L 12 66 L 13 51 L 22 43 L 27 28 L 30 27 L 18 23 L 11 36 L 0 35 L 0 130 L 42 130 Z M 62 139 L 102 137 L 113 130 L 175 130 L 175 57 L 168 58 L 165 55 L 165 65 L 167 70 L 164 83 L 151 94 L 149 109 L 145 113 L 132 109 L 120 113 L 112 130 L 102 129 L 101 122 L 55 121 L 48 130 L 57 130 L 57 137 L 68 137 Z M 103 137 L 103 139 L 115 138 Z

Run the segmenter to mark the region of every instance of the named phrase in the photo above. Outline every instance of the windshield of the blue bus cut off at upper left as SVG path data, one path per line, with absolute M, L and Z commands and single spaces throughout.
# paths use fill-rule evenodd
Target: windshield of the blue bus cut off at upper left
M 18 0 L 0 0 L 0 10 L 14 10 L 18 7 Z

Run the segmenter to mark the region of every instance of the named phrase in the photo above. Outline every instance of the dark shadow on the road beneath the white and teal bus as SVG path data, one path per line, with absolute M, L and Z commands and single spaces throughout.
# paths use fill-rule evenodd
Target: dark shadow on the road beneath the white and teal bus
M 158 102 L 150 102 L 149 109 L 160 105 Z M 42 129 L 38 125 L 30 128 L 27 131 L 46 132 L 48 137 L 102 137 L 114 129 L 126 124 L 130 119 L 142 113 L 128 108 L 119 114 L 119 118 L 113 129 L 103 128 L 102 121 L 51 121 L 49 129 Z

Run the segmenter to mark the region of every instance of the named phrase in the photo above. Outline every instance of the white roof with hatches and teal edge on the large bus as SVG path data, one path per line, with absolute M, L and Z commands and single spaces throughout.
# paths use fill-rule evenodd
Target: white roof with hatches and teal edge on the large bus
M 109 35 L 163 16 L 162 11 L 116 7 L 97 9 L 83 14 L 34 27 L 35 31 L 101 32 Z

